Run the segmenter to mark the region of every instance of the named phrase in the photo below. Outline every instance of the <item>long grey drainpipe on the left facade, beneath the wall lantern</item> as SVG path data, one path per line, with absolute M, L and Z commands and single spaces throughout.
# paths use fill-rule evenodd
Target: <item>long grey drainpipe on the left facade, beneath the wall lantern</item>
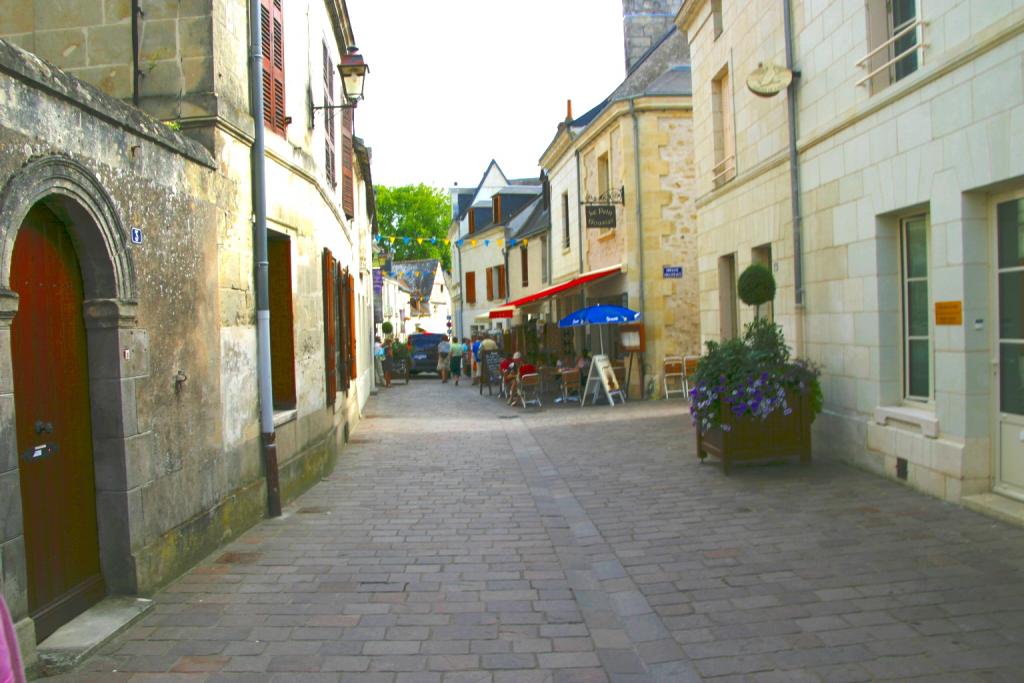
M 260 441 L 266 467 L 266 496 L 271 517 L 281 516 L 278 444 L 273 431 L 273 386 L 270 380 L 270 297 L 266 249 L 266 168 L 263 131 L 263 52 L 260 0 L 249 0 L 249 92 L 252 95 L 253 256 L 256 275 L 256 371 L 259 390 Z

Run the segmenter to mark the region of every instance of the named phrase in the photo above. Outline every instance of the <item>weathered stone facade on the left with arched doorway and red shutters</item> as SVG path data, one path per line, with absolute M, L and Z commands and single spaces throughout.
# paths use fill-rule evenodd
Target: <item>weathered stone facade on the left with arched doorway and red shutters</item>
M 271 11 L 281 8 L 273 2 Z M 264 516 L 267 485 L 257 418 L 246 3 L 142 0 L 139 57 L 155 66 L 142 69 L 150 80 L 138 93 L 131 47 L 124 50 L 132 44 L 123 11 L 130 2 L 62 3 L 63 12 L 22 4 L 0 19 L 12 41 L 0 41 L 0 590 L 32 660 L 37 640 L 103 595 L 152 592 Z M 284 11 L 288 120 L 274 114 L 268 122 L 266 185 L 274 422 L 287 503 L 330 468 L 372 389 L 374 216 L 369 152 L 353 148 L 350 117 L 333 112 L 329 123 L 307 109 L 309 98 L 331 100 L 330 90 L 335 102 L 341 96 L 331 75 L 353 44 L 344 4 L 289 2 Z M 289 22 L 288 12 L 302 20 Z M 147 51 L 146 41 L 165 32 L 173 51 Z M 103 42 L 108 51 L 97 53 Z M 13 43 L 63 59 L 74 75 Z M 177 81 L 167 76 L 176 85 L 147 90 L 164 69 L 173 71 L 163 61 L 180 70 Z M 187 75 L 196 70 L 203 76 Z M 133 94 L 139 108 L 127 103 Z M 37 270 L 26 265 L 33 258 L 50 258 L 38 285 L 23 276 Z M 80 364 L 80 384 L 61 380 L 48 393 L 61 405 L 86 397 L 63 432 L 59 419 L 44 415 L 56 409 L 26 379 L 35 366 L 23 338 L 37 328 L 41 339 L 71 334 L 49 330 L 44 323 L 56 318 L 38 313 L 32 295 L 49 287 L 46 273 L 60 274 L 58 261 L 73 264 L 72 274 L 54 282 L 73 284 L 81 272 L 79 298 L 70 295 L 61 309 L 68 329 L 81 327 L 81 342 L 55 347 L 74 347 L 69 362 Z M 279 395 L 283 383 L 290 391 Z M 74 449 L 63 440 L 71 432 Z M 37 479 L 67 478 L 72 461 L 81 469 L 61 485 L 69 504 L 95 511 L 96 541 L 66 572 L 66 591 L 48 595 L 40 586 L 56 569 L 40 555 L 39 539 L 53 529 L 39 519 L 47 507 L 41 497 L 50 506 L 53 497 Z M 49 469 L 33 474 L 36 465 Z

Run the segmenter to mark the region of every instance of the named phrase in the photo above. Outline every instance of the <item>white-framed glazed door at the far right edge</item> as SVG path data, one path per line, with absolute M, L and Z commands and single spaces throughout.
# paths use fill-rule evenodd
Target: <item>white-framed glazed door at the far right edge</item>
M 1024 500 L 1024 198 L 995 206 L 995 489 Z

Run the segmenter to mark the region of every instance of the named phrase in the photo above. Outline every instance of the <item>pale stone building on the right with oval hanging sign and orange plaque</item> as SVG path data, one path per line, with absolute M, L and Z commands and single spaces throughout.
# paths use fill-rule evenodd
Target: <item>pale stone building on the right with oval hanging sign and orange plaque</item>
M 757 96 L 791 4 L 799 77 Z M 677 25 L 702 336 L 751 318 L 735 279 L 769 262 L 775 318 L 822 367 L 819 453 L 953 502 L 1024 501 L 1024 2 L 686 0 Z

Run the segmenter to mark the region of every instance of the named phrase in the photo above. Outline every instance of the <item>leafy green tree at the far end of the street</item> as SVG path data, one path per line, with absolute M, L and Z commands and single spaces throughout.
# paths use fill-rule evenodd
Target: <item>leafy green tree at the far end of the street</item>
M 422 182 L 399 187 L 376 185 L 374 191 L 381 246 L 392 258 L 396 261 L 437 258 L 444 270 L 451 270 L 452 252 L 444 244 L 452 223 L 452 199 L 447 193 Z

